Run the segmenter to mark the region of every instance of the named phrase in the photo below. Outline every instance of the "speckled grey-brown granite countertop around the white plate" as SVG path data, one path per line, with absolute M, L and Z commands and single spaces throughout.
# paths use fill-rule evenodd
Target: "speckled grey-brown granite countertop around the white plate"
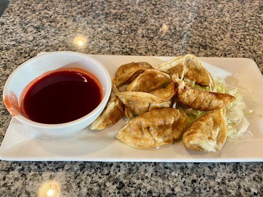
M 244 57 L 263 71 L 262 9 L 261 0 L 12 0 L 0 18 L 0 88 L 42 51 Z M 10 120 L 1 99 L 0 143 Z M 262 196 L 262 178 L 263 163 L 0 161 L 0 196 L 51 187 L 53 197 Z

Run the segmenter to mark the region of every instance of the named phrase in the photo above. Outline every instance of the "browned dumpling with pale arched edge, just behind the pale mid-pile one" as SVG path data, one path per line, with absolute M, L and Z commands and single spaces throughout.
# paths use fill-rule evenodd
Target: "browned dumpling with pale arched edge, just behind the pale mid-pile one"
M 133 92 L 152 92 L 162 85 L 170 83 L 171 77 L 155 69 L 146 70 L 140 74 L 128 87 L 127 91 Z

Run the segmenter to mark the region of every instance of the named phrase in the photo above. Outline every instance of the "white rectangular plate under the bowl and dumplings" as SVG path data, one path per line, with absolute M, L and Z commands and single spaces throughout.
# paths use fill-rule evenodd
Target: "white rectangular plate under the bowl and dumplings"
M 172 57 L 90 55 L 100 61 L 113 77 L 118 66 L 148 62 L 157 66 Z M 257 162 L 263 161 L 263 76 L 253 60 L 244 58 L 199 58 L 215 77 L 237 74 L 234 83 L 244 94 L 253 136 L 227 140 L 221 151 L 203 153 L 188 150 L 182 141 L 158 148 L 134 149 L 115 138 L 126 124 L 123 118 L 104 131 L 88 128 L 72 137 L 47 138 L 15 118 L 10 122 L 0 147 L 0 159 L 8 161 L 103 161 L 103 162 Z M 253 94 L 250 93 L 252 91 Z

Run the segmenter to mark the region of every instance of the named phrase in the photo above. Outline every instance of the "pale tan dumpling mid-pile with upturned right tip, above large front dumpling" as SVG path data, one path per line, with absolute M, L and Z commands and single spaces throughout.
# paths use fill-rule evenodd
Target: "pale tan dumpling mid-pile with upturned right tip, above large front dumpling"
M 171 82 L 166 88 L 161 88 L 150 93 L 145 92 L 120 92 L 118 98 L 136 114 L 141 115 L 152 109 L 169 108 L 175 94 L 175 83 Z

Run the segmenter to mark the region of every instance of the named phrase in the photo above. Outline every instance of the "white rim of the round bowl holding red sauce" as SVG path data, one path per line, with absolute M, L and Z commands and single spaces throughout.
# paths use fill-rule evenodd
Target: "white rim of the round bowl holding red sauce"
M 100 104 L 90 113 L 88 113 L 87 115 L 76 119 L 74 121 L 71 122 L 67 122 L 67 123 L 61 123 L 61 124 L 43 124 L 43 123 L 38 123 L 38 122 L 34 122 L 30 119 L 27 119 L 26 117 L 18 114 L 16 116 L 13 116 L 14 118 L 16 118 L 18 121 L 20 121 L 21 123 L 24 123 L 26 125 L 30 125 L 36 128 L 40 128 L 40 129 L 61 129 L 61 128 L 67 128 L 67 127 L 71 127 L 74 125 L 77 125 L 78 123 L 84 122 L 86 120 L 88 120 L 89 118 L 91 118 L 93 115 L 95 115 L 99 110 L 101 110 L 101 108 L 103 108 L 106 104 L 107 101 L 111 95 L 111 90 L 112 90 L 112 80 L 111 80 L 111 76 L 108 72 L 108 70 L 106 69 L 105 66 L 103 66 L 103 64 L 101 64 L 99 61 L 97 61 L 94 58 L 89 57 L 86 54 L 83 53 L 78 53 L 78 52 L 74 52 L 74 51 L 55 51 L 55 52 L 45 52 L 43 54 L 39 54 L 34 58 L 31 58 L 29 60 L 27 60 L 26 62 L 22 63 L 21 65 L 19 65 L 7 78 L 5 84 L 4 84 L 4 88 L 3 88 L 3 100 L 5 98 L 5 96 L 7 95 L 7 87 L 10 84 L 10 81 L 12 80 L 12 77 L 19 72 L 20 69 L 22 69 L 24 66 L 28 65 L 28 64 L 34 64 L 34 62 L 36 60 L 45 58 L 47 56 L 50 55 L 58 55 L 58 54 L 67 54 L 67 55 L 77 55 L 81 58 L 85 58 L 85 59 L 89 59 L 91 62 L 95 63 L 96 66 L 99 66 L 100 68 L 102 68 L 104 75 L 106 75 L 106 87 L 103 87 L 106 89 L 105 95 L 102 99 L 102 101 L 100 102 Z M 47 70 L 48 71 L 48 70 Z M 95 75 L 96 76 L 96 75 Z M 9 112 L 9 111 L 8 111 Z M 10 113 L 10 112 L 9 112 Z

